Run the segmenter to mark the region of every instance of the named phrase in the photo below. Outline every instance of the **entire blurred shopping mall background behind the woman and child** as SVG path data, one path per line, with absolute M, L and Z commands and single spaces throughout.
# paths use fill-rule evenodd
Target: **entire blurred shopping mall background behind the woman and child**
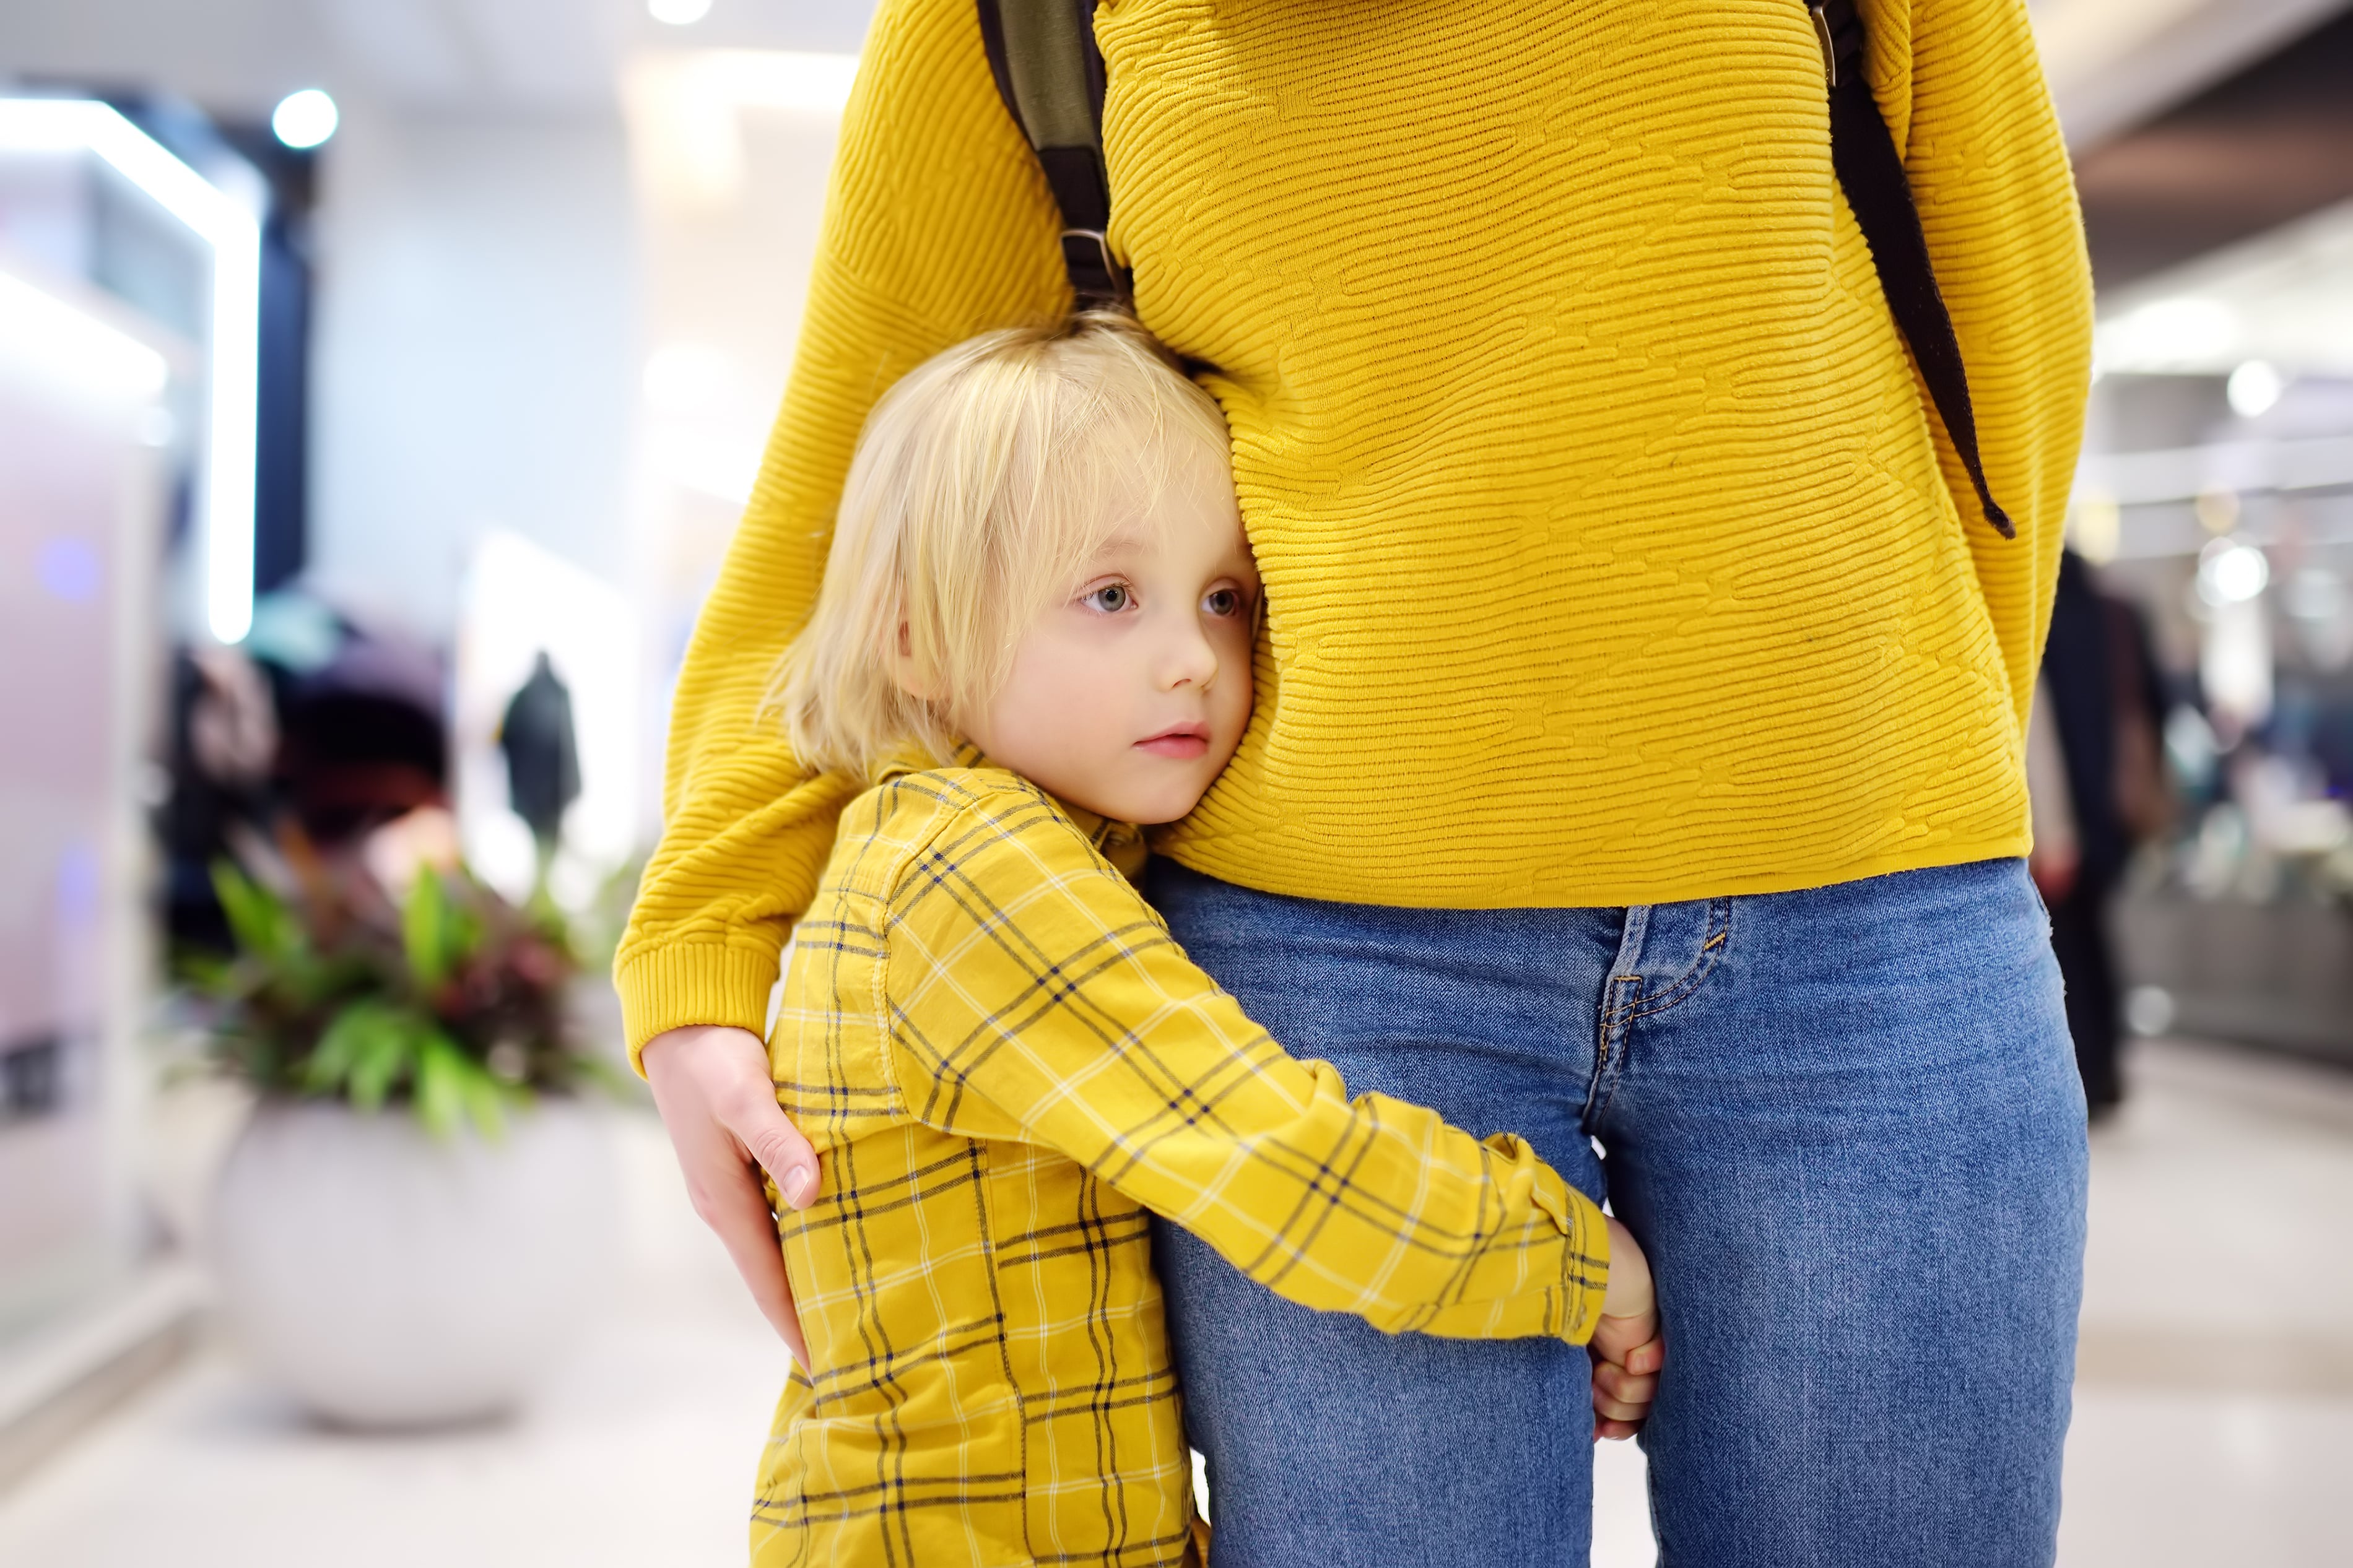
M 868 12 L 0 7 L 0 1561 L 741 1561 L 786 1359 L 602 966 Z M 2031 12 L 2099 284 L 2061 1561 L 2346 1563 L 2353 9 Z

